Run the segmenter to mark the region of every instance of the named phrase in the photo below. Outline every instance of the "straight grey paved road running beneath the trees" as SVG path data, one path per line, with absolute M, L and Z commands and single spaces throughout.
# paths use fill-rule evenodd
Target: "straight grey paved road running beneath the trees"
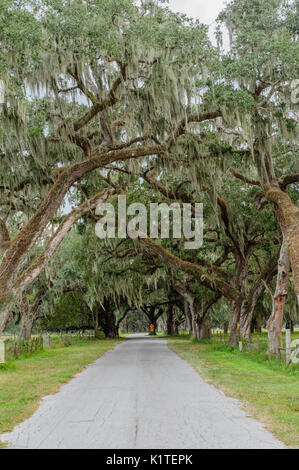
M 283 448 L 166 341 L 134 335 L 34 415 L 0 436 L 10 448 Z

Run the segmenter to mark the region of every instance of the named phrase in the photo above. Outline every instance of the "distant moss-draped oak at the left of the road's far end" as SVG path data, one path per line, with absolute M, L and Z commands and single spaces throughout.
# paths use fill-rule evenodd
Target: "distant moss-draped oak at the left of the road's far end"
M 138 251 L 126 240 L 97 239 L 93 219 L 81 222 L 73 227 L 46 270 L 52 282 L 50 323 L 65 323 L 63 318 L 59 322 L 59 306 L 62 302 L 67 310 L 66 295 L 75 295 L 85 306 L 80 325 L 94 328 L 96 336 L 101 330 L 108 338 L 116 337 L 129 313 L 140 312 L 145 306 L 155 311 L 173 300 L 168 301 L 163 270 L 157 270 L 155 267 L 152 272 L 152 266 L 142 263 Z M 62 317 L 71 317 L 71 304 L 69 310 L 69 315 L 66 312 Z M 80 321 L 80 315 L 75 317 Z

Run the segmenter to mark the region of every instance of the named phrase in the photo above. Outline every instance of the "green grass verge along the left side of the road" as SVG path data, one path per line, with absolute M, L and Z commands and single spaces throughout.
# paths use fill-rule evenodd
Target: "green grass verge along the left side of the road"
M 58 392 L 75 374 L 121 340 L 76 340 L 67 347 L 23 356 L 0 367 L 0 434 L 32 415 L 40 399 Z M 5 444 L 0 442 L 0 447 Z

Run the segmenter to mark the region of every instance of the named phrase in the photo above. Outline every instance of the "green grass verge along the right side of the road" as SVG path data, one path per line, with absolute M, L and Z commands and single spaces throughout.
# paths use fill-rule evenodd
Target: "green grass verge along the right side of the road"
M 292 335 L 292 339 L 296 337 L 298 334 Z M 263 352 L 264 335 L 260 343 L 261 352 L 239 352 L 216 340 L 168 340 L 169 347 L 207 382 L 239 399 L 287 446 L 299 448 L 299 368 L 269 361 Z

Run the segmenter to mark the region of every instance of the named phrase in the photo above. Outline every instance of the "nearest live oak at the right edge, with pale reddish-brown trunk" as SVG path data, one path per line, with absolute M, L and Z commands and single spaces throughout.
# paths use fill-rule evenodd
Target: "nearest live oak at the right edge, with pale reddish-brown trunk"
M 281 346 L 289 260 L 299 302 L 299 209 L 291 186 L 299 181 L 298 101 L 292 89 L 299 72 L 296 13 L 297 2 L 236 0 L 220 15 L 231 38 L 230 51 L 223 57 L 223 78 L 252 100 L 252 109 L 232 122 L 232 127 L 244 149 L 250 149 L 249 166 L 256 173 L 254 178 L 246 178 L 244 170 L 240 174 L 232 168 L 232 173 L 262 189 L 283 236 L 268 322 L 272 352 Z

